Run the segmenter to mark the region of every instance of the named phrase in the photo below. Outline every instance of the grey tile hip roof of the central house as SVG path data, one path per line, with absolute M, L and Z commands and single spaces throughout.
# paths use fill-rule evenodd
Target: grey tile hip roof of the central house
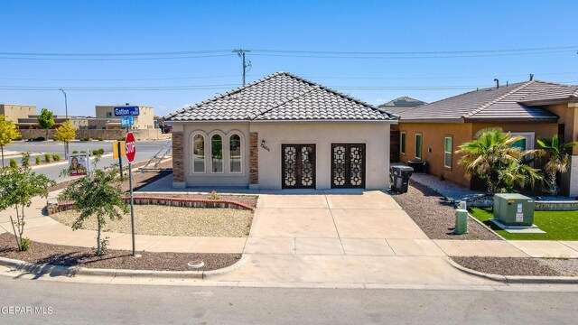
M 169 121 L 393 120 L 356 98 L 287 72 L 276 72 L 244 87 L 182 108 Z

